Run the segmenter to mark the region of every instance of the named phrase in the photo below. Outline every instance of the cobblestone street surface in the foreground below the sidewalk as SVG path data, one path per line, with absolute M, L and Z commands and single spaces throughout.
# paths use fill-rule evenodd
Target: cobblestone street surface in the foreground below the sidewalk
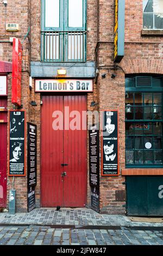
M 163 230 L 0 227 L 0 245 L 163 245 Z

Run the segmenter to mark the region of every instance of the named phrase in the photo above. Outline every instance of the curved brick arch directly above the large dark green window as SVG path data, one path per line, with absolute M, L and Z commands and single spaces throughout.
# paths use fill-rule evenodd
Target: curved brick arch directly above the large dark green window
M 163 74 L 163 59 L 123 59 L 120 66 L 125 74 Z

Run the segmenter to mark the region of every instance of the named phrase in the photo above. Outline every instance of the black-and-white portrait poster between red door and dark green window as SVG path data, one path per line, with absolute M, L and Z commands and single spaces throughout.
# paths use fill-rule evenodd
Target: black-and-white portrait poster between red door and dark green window
M 118 110 L 102 111 L 102 176 L 118 176 Z

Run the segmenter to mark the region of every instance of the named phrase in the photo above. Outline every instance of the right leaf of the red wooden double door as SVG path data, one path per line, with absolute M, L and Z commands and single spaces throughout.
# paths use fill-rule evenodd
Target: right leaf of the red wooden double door
M 64 106 L 69 106 L 70 124 L 75 118 L 74 124 L 77 128 L 64 130 L 64 161 L 68 164 L 64 168 L 67 174 L 64 177 L 64 204 L 70 207 L 84 207 L 86 201 L 86 130 L 82 130 L 82 111 L 86 111 L 86 96 L 65 96 Z

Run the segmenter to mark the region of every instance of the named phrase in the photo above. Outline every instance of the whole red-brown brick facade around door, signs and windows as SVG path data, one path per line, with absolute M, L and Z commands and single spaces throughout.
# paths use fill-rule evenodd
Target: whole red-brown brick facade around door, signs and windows
M 0 4 L 0 40 L 9 40 L 17 37 L 23 41 L 30 26 L 29 37 L 23 41 L 23 66 L 22 66 L 22 104 L 27 110 L 27 121 L 37 124 L 37 186 L 36 205 L 40 206 L 40 93 L 29 91 L 29 62 L 40 61 L 40 11 L 41 1 L 18 2 L 8 0 L 5 10 Z M 30 7 L 31 5 L 31 7 Z M 87 109 L 92 101 L 98 102 L 98 110 L 119 110 L 119 148 L 120 148 L 120 176 L 100 177 L 100 208 L 101 213 L 124 213 L 124 202 L 115 200 L 116 190 L 125 190 L 122 182 L 121 169 L 125 168 L 125 130 L 124 130 L 124 99 L 126 74 L 162 74 L 163 73 L 163 38 L 161 36 L 141 36 L 142 30 L 142 0 L 126 0 L 125 16 L 125 48 L 124 58 L 116 70 L 111 69 L 114 53 L 114 0 L 87 0 L 87 61 L 95 61 L 95 48 L 97 45 L 97 68 L 99 70 L 97 84 L 94 82 L 93 93 L 87 94 Z M 6 32 L 5 23 L 13 22 L 20 25 L 18 32 Z M 97 41 L 99 43 L 97 44 Z M 30 48 L 31 43 L 31 48 Z M 0 60 L 12 61 L 12 45 L 0 43 Z M 109 67 L 108 67 L 109 66 Z M 106 78 L 102 79 L 102 74 Z M 111 79 L 111 74 L 116 73 L 116 78 Z M 8 108 L 11 104 L 11 74 L 8 75 Z M 30 100 L 35 100 L 37 107 L 29 105 Z M 100 141 L 101 145 L 101 141 Z M 89 174 L 89 145 L 87 142 L 87 171 Z M 99 170 L 101 173 L 101 168 Z M 12 187 L 12 177 L 8 178 L 8 190 Z M 14 188 L 17 196 L 17 210 L 27 210 L 27 178 L 15 177 Z M 87 176 L 87 205 L 90 205 L 89 175 Z

